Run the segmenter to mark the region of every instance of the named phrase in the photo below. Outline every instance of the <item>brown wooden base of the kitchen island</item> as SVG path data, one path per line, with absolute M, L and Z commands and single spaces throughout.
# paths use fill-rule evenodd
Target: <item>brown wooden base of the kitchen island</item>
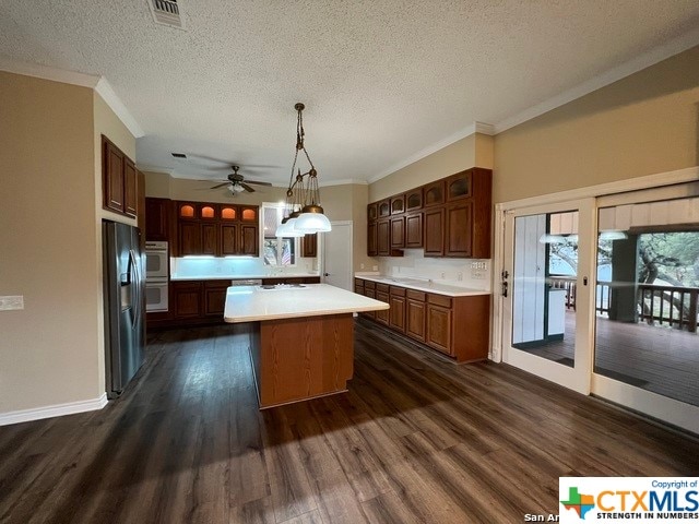
M 260 409 L 347 390 L 354 370 L 352 313 L 247 326 Z

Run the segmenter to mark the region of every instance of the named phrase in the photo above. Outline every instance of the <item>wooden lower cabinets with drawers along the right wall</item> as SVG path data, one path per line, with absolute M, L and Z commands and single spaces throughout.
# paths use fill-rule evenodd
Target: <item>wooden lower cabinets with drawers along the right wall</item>
M 459 362 L 488 357 L 489 295 L 450 297 L 359 277 L 355 278 L 355 290 L 390 305 L 389 310 L 376 311 L 376 321 L 388 329 Z

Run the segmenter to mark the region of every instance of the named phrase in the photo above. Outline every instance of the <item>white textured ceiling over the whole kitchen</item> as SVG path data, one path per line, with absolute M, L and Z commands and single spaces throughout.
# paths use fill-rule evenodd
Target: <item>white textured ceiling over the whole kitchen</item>
M 145 132 L 143 168 L 216 179 L 236 163 L 283 186 L 296 102 L 321 183 L 375 179 L 699 27 L 696 0 L 179 3 L 186 31 L 146 0 L 3 0 L 0 56 L 106 78 Z

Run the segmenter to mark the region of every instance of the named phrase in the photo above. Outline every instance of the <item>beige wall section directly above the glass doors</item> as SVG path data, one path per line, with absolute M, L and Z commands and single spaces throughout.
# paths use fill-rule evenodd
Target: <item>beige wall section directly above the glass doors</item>
M 699 47 L 495 138 L 494 202 L 699 164 Z

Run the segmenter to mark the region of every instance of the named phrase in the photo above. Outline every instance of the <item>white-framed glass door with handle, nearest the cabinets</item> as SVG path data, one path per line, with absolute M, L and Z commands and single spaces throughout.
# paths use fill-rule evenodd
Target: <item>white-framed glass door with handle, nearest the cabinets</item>
M 590 393 L 594 199 L 506 213 L 502 360 Z

